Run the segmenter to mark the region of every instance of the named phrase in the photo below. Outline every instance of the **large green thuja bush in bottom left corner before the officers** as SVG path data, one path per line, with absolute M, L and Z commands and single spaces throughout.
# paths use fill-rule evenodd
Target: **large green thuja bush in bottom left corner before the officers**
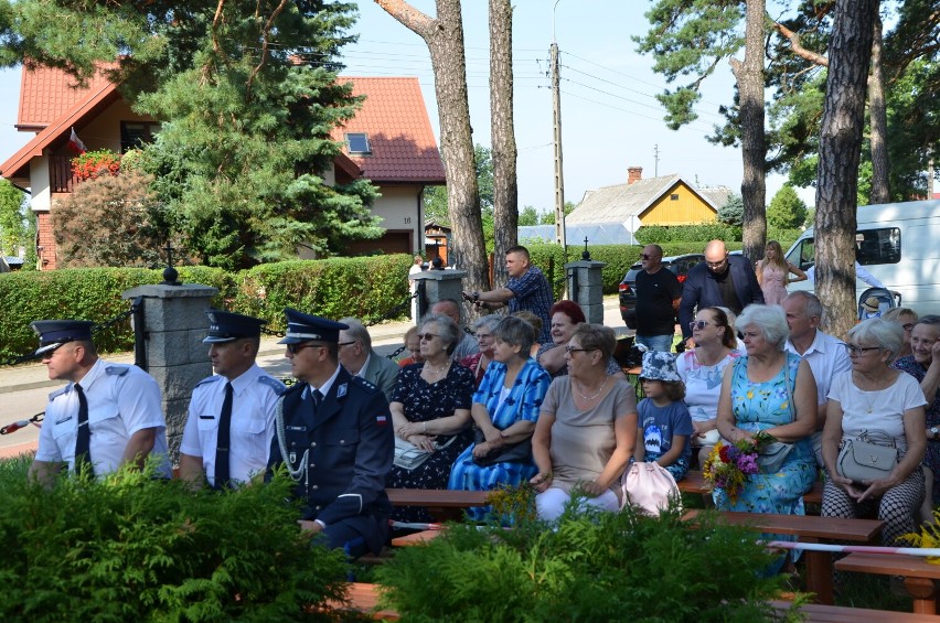
M 145 472 L 30 484 L 0 470 L 2 621 L 332 621 L 340 552 L 302 538 L 290 481 L 216 493 Z

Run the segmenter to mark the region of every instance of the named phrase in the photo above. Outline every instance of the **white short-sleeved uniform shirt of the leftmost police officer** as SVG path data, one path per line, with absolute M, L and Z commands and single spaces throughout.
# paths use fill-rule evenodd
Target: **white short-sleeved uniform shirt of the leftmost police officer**
M 169 477 L 167 422 L 160 387 L 153 377 L 137 366 L 98 359 L 79 384 L 88 400 L 89 452 L 95 475 L 116 471 L 133 433 L 156 428 L 157 439 L 151 455 L 163 459 L 158 470 Z M 64 461 L 70 470 L 74 470 L 77 431 L 78 393 L 70 383 L 49 396 L 36 461 Z

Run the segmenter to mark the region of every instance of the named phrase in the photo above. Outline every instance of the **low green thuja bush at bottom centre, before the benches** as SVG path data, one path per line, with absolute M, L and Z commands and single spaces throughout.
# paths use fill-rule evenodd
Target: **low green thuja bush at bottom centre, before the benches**
M 451 526 L 376 571 L 408 621 L 770 621 L 779 577 L 754 533 L 703 513 L 567 513 L 557 527 Z M 795 617 L 795 613 L 792 614 Z

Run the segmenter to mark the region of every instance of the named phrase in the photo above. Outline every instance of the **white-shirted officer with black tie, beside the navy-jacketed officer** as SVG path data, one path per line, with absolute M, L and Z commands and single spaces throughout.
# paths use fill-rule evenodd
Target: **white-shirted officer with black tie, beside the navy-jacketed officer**
M 264 320 L 211 310 L 209 358 L 214 376 L 193 389 L 180 444 L 180 477 L 215 488 L 264 472 L 275 410 L 285 385 L 255 363 Z

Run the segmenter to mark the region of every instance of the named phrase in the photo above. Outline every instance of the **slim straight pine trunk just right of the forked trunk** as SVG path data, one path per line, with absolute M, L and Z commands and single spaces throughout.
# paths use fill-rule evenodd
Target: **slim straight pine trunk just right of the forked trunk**
M 519 184 L 513 129 L 512 4 L 490 0 L 490 135 L 493 159 L 493 281 L 506 282 L 503 258 L 519 243 Z

